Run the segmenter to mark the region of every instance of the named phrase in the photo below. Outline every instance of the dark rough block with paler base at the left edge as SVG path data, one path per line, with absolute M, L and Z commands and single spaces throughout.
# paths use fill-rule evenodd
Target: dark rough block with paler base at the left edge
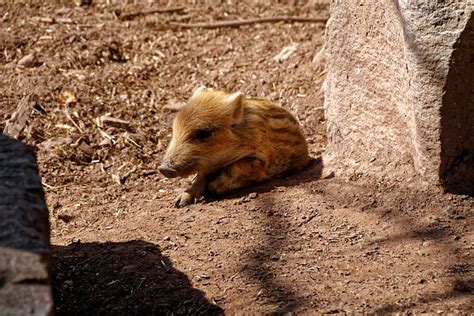
M 0 134 L 0 314 L 51 315 L 49 221 L 34 155 Z

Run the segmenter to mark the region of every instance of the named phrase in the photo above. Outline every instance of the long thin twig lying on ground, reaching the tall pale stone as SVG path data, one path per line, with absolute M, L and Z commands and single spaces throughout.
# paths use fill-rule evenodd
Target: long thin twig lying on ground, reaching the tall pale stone
M 298 17 L 298 16 L 274 16 L 268 18 L 256 18 L 248 20 L 230 20 L 230 21 L 219 21 L 214 23 L 181 23 L 181 22 L 169 22 L 171 26 L 177 26 L 181 28 L 203 28 L 203 29 L 214 29 L 220 27 L 239 27 L 242 25 L 250 25 L 257 23 L 277 23 L 277 22 L 300 22 L 300 23 L 326 23 L 328 19 L 323 17 L 312 18 L 312 17 Z

